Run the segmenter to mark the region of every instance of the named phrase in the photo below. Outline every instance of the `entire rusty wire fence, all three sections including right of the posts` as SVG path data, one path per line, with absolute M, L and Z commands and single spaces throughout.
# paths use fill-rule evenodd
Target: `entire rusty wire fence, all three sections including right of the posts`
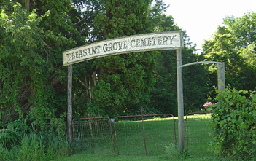
M 197 112 L 185 118 L 185 148 L 193 157 L 214 157 L 209 143 L 210 114 Z M 113 128 L 112 128 L 113 127 Z M 147 155 L 165 154 L 177 145 L 177 122 L 172 114 L 92 117 L 73 120 L 73 141 L 77 151 L 88 154 Z

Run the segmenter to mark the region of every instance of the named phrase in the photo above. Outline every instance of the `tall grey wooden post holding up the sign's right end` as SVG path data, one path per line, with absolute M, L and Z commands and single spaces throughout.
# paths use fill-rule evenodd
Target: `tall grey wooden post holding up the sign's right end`
M 177 55 L 177 98 L 178 98 L 178 127 L 179 127 L 179 150 L 184 147 L 184 105 L 182 85 L 182 50 L 176 50 Z

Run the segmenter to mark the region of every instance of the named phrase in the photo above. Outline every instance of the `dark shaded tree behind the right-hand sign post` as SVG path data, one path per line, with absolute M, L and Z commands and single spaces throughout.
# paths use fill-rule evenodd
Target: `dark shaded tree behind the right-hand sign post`
M 171 16 L 160 15 L 158 31 L 179 30 Z M 202 60 L 201 55 L 195 54 L 195 45 L 185 34 L 185 47 L 182 50 L 182 64 Z M 150 106 L 162 113 L 177 115 L 177 63 L 176 51 L 160 51 L 155 68 L 155 86 L 150 93 Z M 204 66 L 188 66 L 183 68 L 183 86 L 185 111 L 198 111 L 202 103 L 206 102 L 207 87 L 206 68 Z

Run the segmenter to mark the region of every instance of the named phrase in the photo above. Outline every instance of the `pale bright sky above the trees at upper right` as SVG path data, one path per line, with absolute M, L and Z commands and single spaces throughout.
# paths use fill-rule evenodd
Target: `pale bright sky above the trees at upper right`
M 227 16 L 242 17 L 256 12 L 256 0 L 163 0 L 169 4 L 166 15 L 187 31 L 190 42 L 197 44 L 198 52 L 205 39 L 211 39 L 217 27 Z

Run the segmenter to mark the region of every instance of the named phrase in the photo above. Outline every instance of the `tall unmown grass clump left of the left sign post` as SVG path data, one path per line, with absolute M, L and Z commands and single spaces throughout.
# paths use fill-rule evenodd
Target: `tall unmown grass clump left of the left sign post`
M 36 136 L 35 133 L 23 136 L 20 145 L 6 149 L 0 146 L 0 160 L 53 160 L 69 154 L 69 144 L 63 138 Z

